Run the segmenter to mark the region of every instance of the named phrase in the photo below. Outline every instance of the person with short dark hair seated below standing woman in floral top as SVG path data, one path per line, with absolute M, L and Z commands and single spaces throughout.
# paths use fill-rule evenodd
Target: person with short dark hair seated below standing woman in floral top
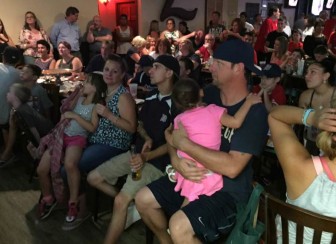
M 50 44 L 46 40 L 38 40 L 36 42 L 37 55 L 39 58 L 35 59 L 35 64 L 42 70 L 55 69 L 56 60 L 50 57 Z

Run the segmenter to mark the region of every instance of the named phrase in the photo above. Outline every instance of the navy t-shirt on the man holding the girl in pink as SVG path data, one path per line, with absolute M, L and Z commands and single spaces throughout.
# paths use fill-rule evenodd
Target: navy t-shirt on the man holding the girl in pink
M 217 87 L 210 85 L 204 89 L 203 101 L 225 107 L 229 115 L 234 115 L 245 102 L 245 99 L 232 106 L 224 106 Z M 259 155 L 266 144 L 268 132 L 267 110 L 260 103 L 253 105 L 248 112 L 242 126 L 238 129 L 222 127 L 222 142 L 220 150 L 223 152 L 238 151 L 251 155 Z M 234 163 L 234 162 L 232 162 Z M 245 169 L 234 179 L 223 176 L 223 191 L 229 192 L 237 201 L 246 201 L 252 189 L 252 159 Z

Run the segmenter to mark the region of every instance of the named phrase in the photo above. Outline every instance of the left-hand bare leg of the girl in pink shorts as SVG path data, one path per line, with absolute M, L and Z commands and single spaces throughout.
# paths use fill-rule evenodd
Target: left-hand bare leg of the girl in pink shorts
M 51 178 L 50 178 L 50 161 L 51 156 L 49 150 L 46 150 L 41 158 L 41 161 L 36 169 L 39 177 L 42 196 L 52 196 Z

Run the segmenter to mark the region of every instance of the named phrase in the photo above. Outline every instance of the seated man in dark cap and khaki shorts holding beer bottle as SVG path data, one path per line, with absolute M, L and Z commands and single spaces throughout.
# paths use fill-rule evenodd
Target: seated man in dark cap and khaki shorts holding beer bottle
M 115 197 L 105 243 L 118 243 L 125 229 L 127 208 L 135 194 L 164 175 L 170 161 L 164 131 L 173 121 L 171 92 L 179 72 L 179 63 L 172 56 L 161 55 L 154 61 L 149 73 L 152 84 L 157 85 L 158 90 L 147 96 L 141 108 L 135 155 L 130 151 L 120 154 L 91 171 L 88 176 L 92 186 Z M 132 179 L 131 167 L 141 170 L 141 179 Z M 127 180 L 118 192 L 114 185 L 123 175 L 128 175 Z

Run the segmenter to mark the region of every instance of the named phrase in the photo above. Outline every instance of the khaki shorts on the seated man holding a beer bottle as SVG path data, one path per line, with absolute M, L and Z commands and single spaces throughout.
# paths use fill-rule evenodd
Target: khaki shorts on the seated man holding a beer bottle
M 134 198 L 141 188 L 162 177 L 163 172 L 152 164 L 145 163 L 141 169 L 141 179 L 132 180 L 130 158 L 131 153 L 127 151 L 104 162 L 95 170 L 111 185 L 115 185 L 119 177 L 128 175 L 121 191 Z

